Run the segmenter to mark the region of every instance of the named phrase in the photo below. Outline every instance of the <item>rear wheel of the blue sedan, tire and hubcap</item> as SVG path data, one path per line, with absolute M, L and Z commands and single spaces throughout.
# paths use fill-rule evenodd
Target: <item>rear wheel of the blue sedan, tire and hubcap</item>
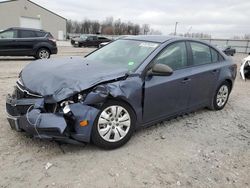
M 225 81 L 223 82 L 215 92 L 212 103 L 212 110 L 222 110 L 228 101 L 231 92 L 231 85 Z

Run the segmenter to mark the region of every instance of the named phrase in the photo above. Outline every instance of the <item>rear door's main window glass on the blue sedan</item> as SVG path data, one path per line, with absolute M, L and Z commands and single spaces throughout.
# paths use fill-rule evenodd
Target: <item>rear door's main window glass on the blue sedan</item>
M 198 42 L 190 42 L 193 53 L 193 64 L 203 65 L 212 62 L 210 47 Z

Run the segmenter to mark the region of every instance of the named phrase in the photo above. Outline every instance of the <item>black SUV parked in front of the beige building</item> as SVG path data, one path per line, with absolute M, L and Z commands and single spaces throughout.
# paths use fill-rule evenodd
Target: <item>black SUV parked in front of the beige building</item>
M 57 53 L 56 40 L 44 30 L 9 28 L 0 32 L 0 56 L 34 56 L 48 59 Z

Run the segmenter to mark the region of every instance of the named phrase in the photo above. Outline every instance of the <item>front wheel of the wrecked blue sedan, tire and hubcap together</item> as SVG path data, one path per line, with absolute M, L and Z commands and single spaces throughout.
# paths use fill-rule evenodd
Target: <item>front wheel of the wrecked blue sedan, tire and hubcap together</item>
M 121 147 L 131 138 L 135 130 L 135 122 L 134 111 L 128 104 L 110 100 L 103 105 L 94 121 L 91 140 L 103 149 Z

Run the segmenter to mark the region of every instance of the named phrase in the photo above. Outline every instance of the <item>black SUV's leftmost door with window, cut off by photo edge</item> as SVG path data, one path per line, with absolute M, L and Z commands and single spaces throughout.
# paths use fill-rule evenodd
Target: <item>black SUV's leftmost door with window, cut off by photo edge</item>
M 11 56 L 15 55 L 18 51 L 17 41 L 17 30 L 9 29 L 0 32 L 0 55 Z

